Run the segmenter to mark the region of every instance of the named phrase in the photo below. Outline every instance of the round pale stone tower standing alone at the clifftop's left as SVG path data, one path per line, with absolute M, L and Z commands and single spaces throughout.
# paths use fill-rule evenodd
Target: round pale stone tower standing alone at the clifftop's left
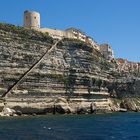
M 36 30 L 40 29 L 40 14 L 34 11 L 25 11 L 24 27 Z

